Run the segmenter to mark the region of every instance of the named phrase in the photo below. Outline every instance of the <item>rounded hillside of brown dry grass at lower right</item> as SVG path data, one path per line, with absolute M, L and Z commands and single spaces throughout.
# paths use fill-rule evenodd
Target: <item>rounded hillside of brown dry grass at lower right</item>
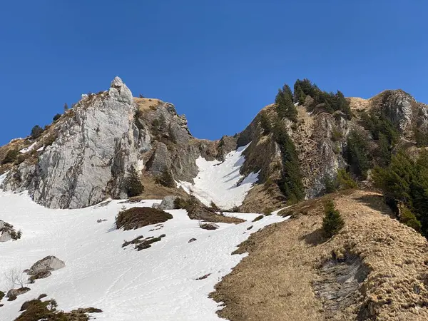
M 427 240 L 389 218 L 377 193 L 329 195 L 345 228 L 322 238 L 322 200 L 294 209 L 295 218 L 252 235 L 238 253 L 249 252 L 216 286 L 213 298 L 229 320 L 428 320 Z M 352 253 L 370 270 L 360 286 L 361 300 L 333 315 L 315 296 L 312 282 L 332 258 Z M 370 319 L 358 319 L 365 310 Z

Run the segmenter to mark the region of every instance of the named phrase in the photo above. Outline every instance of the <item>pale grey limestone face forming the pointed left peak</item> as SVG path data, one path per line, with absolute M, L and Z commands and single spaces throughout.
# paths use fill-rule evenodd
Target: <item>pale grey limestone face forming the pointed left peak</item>
M 148 134 L 133 123 L 135 111 L 131 91 L 114 78 L 107 92 L 83 98 L 39 162 L 21 164 L 5 187 L 29 189 L 36 202 L 50 208 L 93 205 L 108 193 L 126 196 L 123 175 L 137 163 L 136 151 L 148 148 Z

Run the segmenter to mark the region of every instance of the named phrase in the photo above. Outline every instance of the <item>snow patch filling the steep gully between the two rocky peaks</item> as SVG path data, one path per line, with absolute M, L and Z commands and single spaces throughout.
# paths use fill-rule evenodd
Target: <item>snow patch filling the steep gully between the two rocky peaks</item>
M 250 144 L 248 144 L 250 145 Z M 222 209 L 233 208 L 243 203 L 248 190 L 258 180 L 258 173 L 251 173 L 247 177 L 240 175 L 239 170 L 245 161 L 243 151 L 248 145 L 228 153 L 225 161 L 206 161 L 199 157 L 196 160 L 199 173 L 195 183 L 178 182 L 187 193 L 193 193 L 205 205 L 214 202 Z

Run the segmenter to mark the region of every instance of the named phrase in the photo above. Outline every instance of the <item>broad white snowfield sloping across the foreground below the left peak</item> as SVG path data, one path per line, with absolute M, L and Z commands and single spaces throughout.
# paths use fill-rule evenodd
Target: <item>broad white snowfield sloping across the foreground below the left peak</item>
M 154 202 L 113 200 L 80 210 L 51 210 L 26 193 L 0 191 L 0 219 L 22 230 L 20 240 L 0 244 L 0 290 L 9 290 L 2 276 L 11 268 L 24 270 L 47 255 L 66 263 L 50 277 L 29 284 L 31 290 L 15 301 L 1 300 L 0 320 L 14 320 L 22 303 L 41 293 L 56 299 L 62 310 L 98 307 L 103 312 L 94 315 L 97 320 L 220 320 L 215 314 L 219 306 L 208 293 L 244 256 L 231 253 L 250 233 L 284 218 L 270 215 L 255 223 L 219 224 L 218 230 L 209 231 L 200 229 L 185 210 L 170 210 L 173 219 L 159 230 L 153 225 L 115 229 L 115 216 L 123 206 Z M 255 215 L 240 217 L 252 220 Z M 247 230 L 250 225 L 254 228 Z M 146 250 L 121 248 L 123 240 L 161 234 L 165 238 Z M 190 238 L 196 240 L 188 243 Z

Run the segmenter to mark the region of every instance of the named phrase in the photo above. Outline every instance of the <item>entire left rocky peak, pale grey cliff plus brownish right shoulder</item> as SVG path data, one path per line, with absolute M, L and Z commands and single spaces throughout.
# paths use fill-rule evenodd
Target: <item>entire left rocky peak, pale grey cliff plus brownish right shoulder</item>
M 82 95 L 40 138 L 1 147 L 0 157 L 14 146 L 37 148 L 19 164 L 0 165 L 0 173 L 9 170 L 1 188 L 29 190 L 49 208 L 83 208 L 107 197 L 126 198 L 131 167 L 153 179 L 169 170 L 173 178 L 191 181 L 199 156 L 221 158 L 234 146 L 233 138 L 225 140 L 218 150 L 218 141 L 193 138 L 172 104 L 133 98 L 116 77 L 108 91 Z

